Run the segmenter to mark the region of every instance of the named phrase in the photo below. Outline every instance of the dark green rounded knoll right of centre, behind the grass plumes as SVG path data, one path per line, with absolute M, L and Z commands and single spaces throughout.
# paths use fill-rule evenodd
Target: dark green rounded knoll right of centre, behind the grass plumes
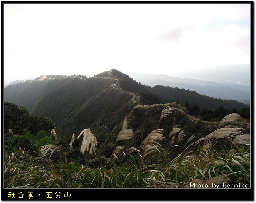
M 164 108 L 171 107 L 172 113 L 161 119 L 160 115 Z M 205 135 L 210 134 L 212 131 L 218 128 L 220 121 L 204 121 L 201 118 L 197 118 L 187 114 L 187 108 L 177 103 L 168 104 L 156 104 L 156 105 L 136 105 L 130 112 L 128 118 L 128 128 L 133 129 L 134 136 L 130 140 L 121 140 L 115 143 L 115 139 L 118 133 L 122 130 L 122 122 L 125 115 L 118 115 L 119 124 L 116 128 L 110 129 L 109 135 L 103 139 L 103 144 L 99 145 L 99 151 L 106 157 L 111 156 L 112 150 L 117 146 L 122 145 L 123 148 L 128 149 L 130 147 L 140 148 L 141 141 L 155 129 L 164 129 L 164 139 L 160 142 L 163 149 L 168 150 L 170 139 L 170 132 L 175 125 L 179 125 L 181 130 L 184 130 L 184 140 L 179 143 L 171 154 L 176 156 L 178 152 L 186 145 L 188 138 L 192 135 L 195 136 L 195 140 L 198 140 Z M 224 115 L 225 116 L 225 115 Z M 224 117 L 222 116 L 222 118 Z M 243 120 L 243 121 L 242 121 Z M 250 133 L 250 122 L 244 118 L 236 125 L 244 129 L 243 133 Z M 104 132 L 105 133 L 105 132 Z M 96 133 L 97 136 L 102 137 L 100 133 Z M 177 136 L 175 138 L 177 139 Z M 106 147 L 108 146 L 108 147 Z M 111 150 L 110 150 L 111 149 Z M 184 149 L 184 148 L 183 148 Z

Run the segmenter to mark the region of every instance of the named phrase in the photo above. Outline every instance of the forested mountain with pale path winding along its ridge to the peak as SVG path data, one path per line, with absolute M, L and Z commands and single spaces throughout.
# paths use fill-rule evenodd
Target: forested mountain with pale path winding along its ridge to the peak
M 99 120 L 112 129 L 136 105 L 189 102 L 199 108 L 226 109 L 249 107 L 233 100 L 214 99 L 168 86 L 145 86 L 112 69 L 95 77 L 38 77 L 4 88 L 4 101 L 25 107 L 32 115 L 52 119 L 70 133 L 93 128 Z

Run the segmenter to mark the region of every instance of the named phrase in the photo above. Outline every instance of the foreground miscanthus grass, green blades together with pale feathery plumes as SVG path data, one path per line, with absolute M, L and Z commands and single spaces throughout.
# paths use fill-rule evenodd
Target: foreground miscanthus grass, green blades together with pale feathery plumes
M 173 114 L 176 114 L 176 109 L 164 108 L 159 122 L 167 116 L 175 118 Z M 11 152 L 4 149 L 4 187 L 190 188 L 191 184 L 211 186 L 224 182 L 250 185 L 251 136 L 243 134 L 243 129 L 238 126 L 228 125 L 240 118 L 238 114 L 230 114 L 214 131 L 198 139 L 195 139 L 196 133 L 186 136 L 185 129 L 173 122 L 170 123 L 170 134 L 165 135 L 161 128 L 152 129 L 143 137 L 139 148 L 127 148 L 120 143 L 132 140 L 134 131 L 128 128 L 129 121 L 125 117 L 122 130 L 113 143 L 116 145 L 112 156 L 103 162 L 97 150 L 97 134 L 90 129 L 82 130 L 77 138 L 74 134 L 71 136 L 67 146 L 70 160 L 66 158 L 63 146 L 58 145 L 58 136 L 53 129 L 57 144 L 42 146 L 38 153 L 18 146 Z M 14 136 L 15 132 L 11 129 L 9 132 Z M 88 167 L 72 162 L 74 141 L 81 137 L 81 155 L 96 155 L 99 166 Z M 163 141 L 168 143 L 167 148 L 163 148 Z M 168 155 L 181 144 L 178 155 L 170 158 Z M 54 162 L 53 156 L 60 156 L 60 161 Z

